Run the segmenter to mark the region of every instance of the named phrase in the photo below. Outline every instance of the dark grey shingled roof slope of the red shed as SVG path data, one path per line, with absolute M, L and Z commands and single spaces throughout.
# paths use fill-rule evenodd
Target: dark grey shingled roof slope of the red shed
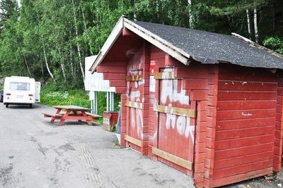
M 283 69 L 283 58 L 242 39 L 213 32 L 133 21 L 201 63 L 229 63 L 247 67 Z

